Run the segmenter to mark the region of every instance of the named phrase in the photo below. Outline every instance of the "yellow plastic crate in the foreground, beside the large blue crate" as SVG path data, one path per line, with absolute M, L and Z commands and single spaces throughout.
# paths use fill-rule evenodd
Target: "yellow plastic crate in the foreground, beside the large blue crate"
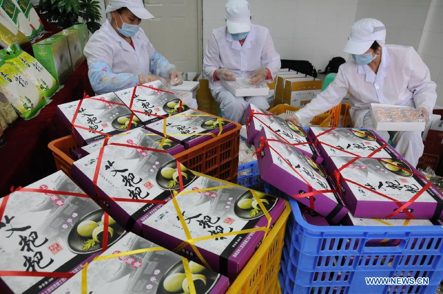
M 281 293 L 278 273 L 282 259 L 286 221 L 290 212 L 291 207 L 285 201 L 285 210 L 282 215 L 226 294 Z

